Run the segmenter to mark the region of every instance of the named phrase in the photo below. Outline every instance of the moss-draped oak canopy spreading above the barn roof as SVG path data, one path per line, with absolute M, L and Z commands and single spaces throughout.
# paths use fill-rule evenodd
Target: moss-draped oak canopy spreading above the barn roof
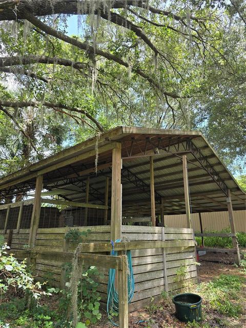
M 245 7 L 1 0 L 1 173 L 117 125 L 202 130 L 242 167 Z

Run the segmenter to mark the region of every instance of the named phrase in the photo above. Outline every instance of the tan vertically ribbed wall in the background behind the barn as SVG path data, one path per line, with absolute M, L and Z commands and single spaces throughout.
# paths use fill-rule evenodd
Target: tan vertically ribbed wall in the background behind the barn
M 246 211 L 233 211 L 235 215 L 236 231 L 246 232 Z M 207 212 L 201 213 L 202 228 L 204 231 L 217 230 L 228 228 L 230 226 L 229 214 L 227 211 L 223 212 Z M 198 213 L 192 214 L 192 224 L 195 232 L 200 232 L 200 223 Z M 168 227 L 185 228 L 186 215 L 165 215 L 165 225 Z

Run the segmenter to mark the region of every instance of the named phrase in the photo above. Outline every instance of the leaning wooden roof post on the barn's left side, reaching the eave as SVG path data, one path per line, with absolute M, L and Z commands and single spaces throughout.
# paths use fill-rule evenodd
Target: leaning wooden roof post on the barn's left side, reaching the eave
M 43 175 L 38 175 L 36 178 L 36 186 L 35 186 L 35 197 L 32 209 L 32 218 L 31 218 L 31 226 L 30 226 L 30 235 L 28 245 L 33 247 L 36 240 L 36 234 L 39 223 L 40 216 L 40 207 L 41 207 L 41 191 L 43 189 Z

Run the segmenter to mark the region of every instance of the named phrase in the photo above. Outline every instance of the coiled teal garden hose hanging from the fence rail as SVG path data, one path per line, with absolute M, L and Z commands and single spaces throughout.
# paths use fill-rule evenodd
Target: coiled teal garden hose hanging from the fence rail
M 120 242 L 121 239 L 115 240 L 115 242 Z M 114 242 L 111 241 L 112 251 L 110 255 L 117 256 L 118 252 L 114 250 Z M 134 294 L 134 276 L 132 269 L 132 255 L 131 251 L 127 251 L 127 262 L 128 262 L 128 304 L 131 302 Z M 107 299 L 107 315 L 109 320 L 113 325 L 118 326 L 112 319 L 113 313 L 119 312 L 119 295 L 115 289 L 115 269 L 109 270 L 109 281 L 108 281 L 108 299 Z

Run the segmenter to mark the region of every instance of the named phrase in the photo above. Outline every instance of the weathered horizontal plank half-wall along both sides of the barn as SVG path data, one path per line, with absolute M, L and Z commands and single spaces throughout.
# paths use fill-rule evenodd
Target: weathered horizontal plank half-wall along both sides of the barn
M 73 227 L 72 229 L 74 229 Z M 70 228 L 50 228 L 38 229 L 34 250 L 49 251 L 68 251 L 72 252 L 76 243 L 65 243 L 64 236 Z M 79 227 L 80 231 L 91 230 L 87 237 L 83 237 L 86 242 L 90 241 L 109 241 L 110 226 Z M 122 226 L 123 241 L 161 241 L 161 227 L 140 227 L 140 226 Z M 24 249 L 28 241 L 29 229 L 13 231 L 13 241 L 11 249 Z M 7 235 L 6 235 L 7 236 Z M 170 240 L 193 240 L 191 229 L 165 228 L 165 239 Z M 65 245 L 66 244 L 66 245 Z M 66 249 L 65 249 L 66 248 Z M 72 258 L 71 258 L 72 260 Z M 188 281 L 197 282 L 197 271 L 194 264 L 194 247 L 173 247 L 166 248 L 166 268 L 168 275 L 169 291 L 179 290 Z M 59 260 L 36 259 L 37 280 L 49 280 L 51 285 L 58 286 L 63 274 L 63 266 Z M 96 263 L 92 263 L 95 264 Z M 162 249 L 142 249 L 132 251 L 132 264 L 135 279 L 135 293 L 132 303 L 129 306 L 130 311 L 139 309 L 149 303 L 150 297 L 158 297 L 165 290 L 165 279 L 163 271 Z M 185 274 L 177 275 L 180 267 L 185 267 Z M 101 295 L 101 301 L 107 302 L 107 283 L 108 270 L 99 268 L 104 273 L 104 277 L 98 279 L 98 291 Z

